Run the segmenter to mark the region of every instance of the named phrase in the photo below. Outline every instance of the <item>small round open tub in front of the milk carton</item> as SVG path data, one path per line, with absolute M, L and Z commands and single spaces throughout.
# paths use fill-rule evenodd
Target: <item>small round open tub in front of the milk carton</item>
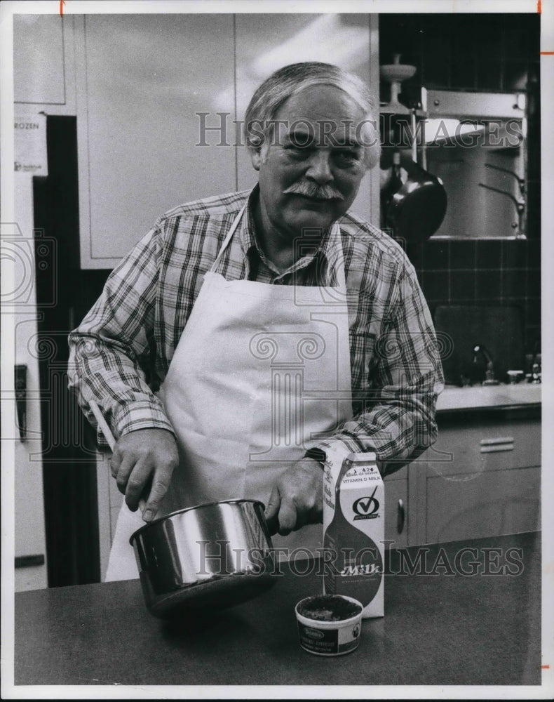
M 358 648 L 363 605 L 346 595 L 313 595 L 295 607 L 300 645 L 316 656 L 342 656 Z

